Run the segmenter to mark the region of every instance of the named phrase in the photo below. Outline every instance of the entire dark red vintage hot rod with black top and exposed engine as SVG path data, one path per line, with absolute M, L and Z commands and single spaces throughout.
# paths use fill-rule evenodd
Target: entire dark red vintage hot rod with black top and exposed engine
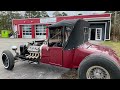
M 41 62 L 65 68 L 78 69 L 80 79 L 120 78 L 120 59 L 105 46 L 88 41 L 89 23 L 81 19 L 63 20 L 49 27 L 48 40 L 20 45 L 16 55 L 5 50 L 2 61 L 7 70 L 12 70 L 15 60 Z

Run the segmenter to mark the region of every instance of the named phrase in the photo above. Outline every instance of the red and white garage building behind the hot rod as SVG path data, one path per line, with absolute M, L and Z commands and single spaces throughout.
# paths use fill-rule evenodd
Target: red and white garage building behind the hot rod
M 78 16 L 59 16 L 47 18 L 13 19 L 12 27 L 17 38 L 48 38 L 47 26 L 69 19 L 84 19 L 90 23 L 89 40 L 110 40 L 111 14 L 93 14 Z

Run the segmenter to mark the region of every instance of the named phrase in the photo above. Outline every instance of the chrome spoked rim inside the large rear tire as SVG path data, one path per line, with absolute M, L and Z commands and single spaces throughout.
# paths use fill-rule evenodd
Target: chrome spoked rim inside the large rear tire
M 101 66 L 92 66 L 87 70 L 87 79 L 110 79 L 109 72 Z

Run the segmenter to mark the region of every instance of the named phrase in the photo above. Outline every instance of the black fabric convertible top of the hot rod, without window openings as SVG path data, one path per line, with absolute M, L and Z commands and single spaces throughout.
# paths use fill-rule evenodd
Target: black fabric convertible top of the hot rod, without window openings
M 50 25 L 49 30 L 58 27 L 73 26 L 68 41 L 64 43 L 64 50 L 74 49 L 88 41 L 90 24 L 82 19 L 63 20 L 56 24 Z M 85 29 L 87 28 L 87 31 Z

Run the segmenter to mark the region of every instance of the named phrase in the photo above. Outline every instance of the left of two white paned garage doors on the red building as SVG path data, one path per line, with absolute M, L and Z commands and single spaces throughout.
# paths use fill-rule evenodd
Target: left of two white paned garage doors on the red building
M 31 25 L 23 25 L 22 30 L 23 30 L 23 38 L 32 38 Z

